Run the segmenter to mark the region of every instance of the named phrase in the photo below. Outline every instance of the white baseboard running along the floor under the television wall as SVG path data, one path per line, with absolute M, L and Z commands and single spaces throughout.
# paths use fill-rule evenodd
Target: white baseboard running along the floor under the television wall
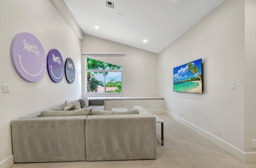
M 175 119 L 176 121 L 178 121 L 179 123 L 182 123 L 183 125 L 185 125 L 186 127 L 192 129 L 193 131 L 195 131 L 196 133 L 202 135 L 203 137 L 205 137 L 206 139 L 212 141 L 213 143 L 215 143 L 216 145 L 224 148 L 226 151 L 230 152 L 231 154 L 233 154 L 234 156 L 236 156 L 237 158 L 239 158 L 240 160 L 244 161 L 244 162 L 256 162 L 256 153 L 245 153 L 242 150 L 230 145 L 229 143 L 219 139 L 218 137 L 204 131 L 203 129 L 200 129 L 199 127 L 197 127 L 196 125 L 193 125 L 192 123 L 189 123 L 188 121 L 185 121 L 184 119 L 173 115 L 172 113 L 169 113 L 168 111 L 163 110 L 168 116 L 172 117 L 172 119 Z

